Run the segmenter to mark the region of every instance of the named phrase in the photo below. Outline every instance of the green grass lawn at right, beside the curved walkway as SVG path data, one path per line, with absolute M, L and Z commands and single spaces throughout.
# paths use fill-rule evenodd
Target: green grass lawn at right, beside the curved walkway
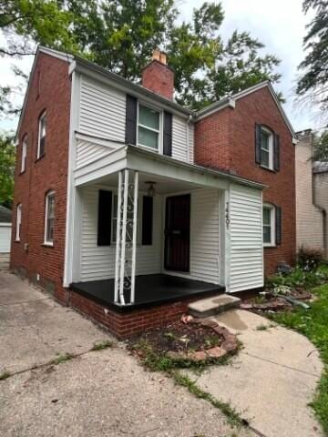
M 323 269 L 328 272 L 328 267 Z M 291 312 L 272 314 L 270 318 L 302 333 L 320 351 L 324 370 L 310 405 L 328 435 L 328 284 L 313 289 L 312 292 L 318 299 L 310 303 L 310 310 L 295 307 Z

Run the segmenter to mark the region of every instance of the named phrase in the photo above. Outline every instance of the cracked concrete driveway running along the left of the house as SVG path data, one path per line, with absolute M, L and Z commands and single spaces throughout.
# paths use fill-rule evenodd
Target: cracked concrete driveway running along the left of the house
M 0 435 L 6 437 L 246 437 L 207 401 L 144 371 L 77 312 L 0 272 Z M 50 363 L 65 353 L 74 358 Z M 258 434 L 257 434 L 258 435 Z

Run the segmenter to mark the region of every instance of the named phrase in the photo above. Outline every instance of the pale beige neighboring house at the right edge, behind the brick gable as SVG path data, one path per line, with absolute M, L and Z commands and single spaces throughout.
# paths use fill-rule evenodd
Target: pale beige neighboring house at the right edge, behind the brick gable
M 328 163 L 313 163 L 313 132 L 297 133 L 295 151 L 297 249 L 319 249 L 328 257 Z

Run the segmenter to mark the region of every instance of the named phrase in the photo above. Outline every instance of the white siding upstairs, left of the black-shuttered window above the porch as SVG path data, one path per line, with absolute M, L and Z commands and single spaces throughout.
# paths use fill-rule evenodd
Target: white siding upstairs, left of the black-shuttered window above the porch
M 125 93 L 82 76 L 79 132 L 124 141 L 125 117 Z

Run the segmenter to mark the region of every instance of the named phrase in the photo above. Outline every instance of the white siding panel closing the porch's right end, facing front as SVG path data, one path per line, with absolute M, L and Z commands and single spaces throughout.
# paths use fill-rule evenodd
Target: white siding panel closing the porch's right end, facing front
M 263 286 L 261 190 L 231 186 L 229 291 Z

